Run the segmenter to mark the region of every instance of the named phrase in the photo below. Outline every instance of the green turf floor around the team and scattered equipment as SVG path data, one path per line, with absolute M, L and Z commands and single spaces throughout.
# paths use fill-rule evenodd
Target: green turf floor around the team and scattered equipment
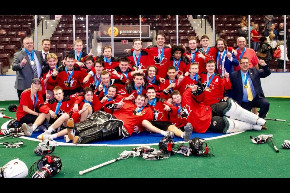
M 102 168 L 79 176 L 79 170 L 104 163 L 119 157 L 118 153 L 130 150 L 132 147 L 56 147 L 53 152 L 63 163 L 62 170 L 55 177 L 289 177 L 290 150 L 281 147 L 282 142 L 290 140 L 289 108 L 290 99 L 267 98 L 270 101 L 269 118 L 286 119 L 286 122 L 267 121 L 268 130 L 247 131 L 226 138 L 209 140 L 215 157 L 183 157 L 181 154 L 171 156 L 166 160 L 149 161 L 141 157 L 129 157 Z M 15 112 L 8 111 L 12 101 L 1 101 L 0 107 L 7 110 L 4 113 L 15 117 Z M 17 103 L 13 101 L 13 103 Z M 17 103 L 18 104 L 18 103 Z M 1 119 L 0 124 L 8 119 Z M 273 134 L 273 142 L 280 153 L 276 153 L 270 142 L 253 144 L 250 136 Z M 162 137 L 160 136 L 160 139 Z M 3 141 L 17 141 L 6 138 Z M 8 140 L 9 139 L 9 140 Z M 38 142 L 24 140 L 21 148 L 10 149 L 0 147 L 0 166 L 8 161 L 19 158 L 28 168 L 41 156 L 33 153 Z M 157 146 L 153 146 L 158 149 Z

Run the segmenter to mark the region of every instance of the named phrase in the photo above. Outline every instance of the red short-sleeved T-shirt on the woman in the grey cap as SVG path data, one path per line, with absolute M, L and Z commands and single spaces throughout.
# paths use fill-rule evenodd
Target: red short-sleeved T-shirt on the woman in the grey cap
M 39 105 L 41 103 L 43 103 L 43 97 L 42 97 L 42 94 L 41 92 L 37 92 L 37 102 L 36 102 L 36 107 L 34 109 L 34 103 L 36 101 L 36 96 L 33 96 L 34 97 L 34 103 L 32 101 L 32 98 L 31 98 L 31 90 L 24 90 L 23 93 L 21 93 L 21 98 L 20 98 L 20 103 L 19 103 L 19 106 L 17 108 L 17 111 L 16 111 L 16 118 L 17 120 L 19 121 L 22 117 L 24 117 L 24 115 L 27 115 L 29 113 L 25 112 L 23 110 L 23 105 L 24 106 L 27 106 L 28 109 L 31 109 L 31 110 L 35 110 L 37 111 L 38 108 L 39 108 Z

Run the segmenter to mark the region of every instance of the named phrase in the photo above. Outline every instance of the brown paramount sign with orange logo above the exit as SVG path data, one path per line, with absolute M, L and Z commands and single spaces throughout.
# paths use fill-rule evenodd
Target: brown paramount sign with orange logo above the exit
M 100 26 L 100 38 L 139 38 L 140 26 Z M 141 26 L 141 37 L 150 38 L 150 26 Z

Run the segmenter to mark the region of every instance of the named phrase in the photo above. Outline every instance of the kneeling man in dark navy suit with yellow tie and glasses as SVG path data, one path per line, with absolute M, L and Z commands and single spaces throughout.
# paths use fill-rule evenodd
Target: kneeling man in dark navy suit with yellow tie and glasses
M 249 68 L 249 59 L 240 59 L 240 70 L 230 74 L 234 100 L 244 109 L 250 111 L 253 107 L 260 107 L 259 117 L 265 118 L 269 111 L 270 103 L 265 99 L 260 78 L 271 74 L 269 66 L 264 60 L 259 60 L 264 70 Z

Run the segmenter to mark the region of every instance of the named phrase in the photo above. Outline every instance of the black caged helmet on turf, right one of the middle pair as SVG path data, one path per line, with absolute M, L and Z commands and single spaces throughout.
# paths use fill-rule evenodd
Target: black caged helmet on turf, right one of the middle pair
M 211 144 L 207 143 L 205 139 L 201 138 L 193 138 L 189 140 L 189 149 L 190 152 L 195 156 L 207 157 L 214 155 Z

